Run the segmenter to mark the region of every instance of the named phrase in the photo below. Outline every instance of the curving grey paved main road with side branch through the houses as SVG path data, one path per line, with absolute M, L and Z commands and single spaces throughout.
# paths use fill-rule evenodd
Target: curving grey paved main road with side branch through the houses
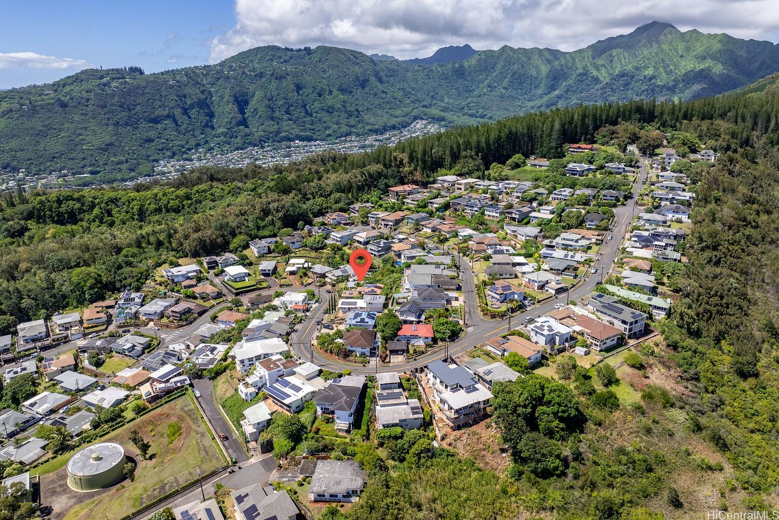
M 573 288 L 565 295 L 561 295 L 556 299 L 551 299 L 548 302 L 541 303 L 536 306 L 530 307 L 529 310 L 516 313 L 511 318 L 511 327 L 519 327 L 523 324 L 527 317 L 539 317 L 545 313 L 554 310 L 555 305 L 559 302 L 567 302 L 569 299 L 580 299 L 583 296 L 589 295 L 593 292 L 595 286 L 601 283 L 601 280 L 608 276 L 608 273 L 612 270 L 613 264 L 619 253 L 619 248 L 622 244 L 622 237 L 626 235 L 629 222 L 636 214 L 636 205 L 634 202 L 637 200 L 638 192 L 643 185 L 643 179 L 646 179 L 647 168 L 643 161 L 640 163 L 639 178 L 633 185 L 633 199 L 628 200 L 625 206 L 615 207 L 615 224 L 612 227 L 612 240 L 606 240 L 603 246 L 600 256 L 597 257 L 597 261 L 592 264 L 598 268 L 597 274 L 590 274 L 587 271 L 587 277 L 583 282 Z M 476 292 L 474 288 L 474 275 L 471 271 L 471 264 L 469 260 L 464 257 L 458 256 L 456 253 L 450 253 L 460 262 L 460 274 L 462 278 L 463 298 L 465 301 L 465 325 L 466 334 L 457 341 L 448 345 L 448 352 L 450 357 L 456 357 L 470 350 L 475 345 L 480 345 L 488 338 L 492 338 L 497 334 L 503 334 L 509 331 L 509 320 L 486 320 L 481 317 L 478 312 L 478 301 L 476 298 Z M 408 363 L 386 365 L 386 366 L 355 366 L 351 363 L 340 363 L 329 357 L 321 355 L 319 352 L 312 352 L 311 341 L 315 334 L 316 327 L 314 321 L 317 317 L 322 316 L 326 304 L 322 303 L 319 307 L 312 311 L 311 316 L 303 324 L 301 324 L 298 331 L 295 331 L 292 335 L 292 348 L 295 354 L 301 359 L 313 361 L 319 366 L 323 366 L 330 370 L 344 370 L 349 369 L 351 373 L 370 375 L 376 372 L 398 372 L 404 370 L 414 370 L 426 366 L 431 361 L 436 359 L 444 359 L 446 357 L 446 348 L 439 348 L 428 354 L 428 356 L 422 356 L 419 359 L 410 361 Z

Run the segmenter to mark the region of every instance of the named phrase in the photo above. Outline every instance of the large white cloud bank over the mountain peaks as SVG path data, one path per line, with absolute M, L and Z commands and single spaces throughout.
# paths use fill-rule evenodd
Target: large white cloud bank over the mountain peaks
M 572 51 L 654 19 L 760 40 L 779 31 L 775 0 L 236 0 L 235 15 L 236 26 L 211 42 L 211 62 L 269 44 L 333 45 L 401 59 L 466 43 Z

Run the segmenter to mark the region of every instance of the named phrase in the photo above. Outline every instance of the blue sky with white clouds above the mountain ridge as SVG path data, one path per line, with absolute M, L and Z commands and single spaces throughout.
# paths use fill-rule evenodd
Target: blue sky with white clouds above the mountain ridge
M 461 44 L 573 51 L 654 19 L 779 41 L 777 0 L 0 0 L 0 89 L 89 67 L 215 63 L 267 44 L 400 59 Z

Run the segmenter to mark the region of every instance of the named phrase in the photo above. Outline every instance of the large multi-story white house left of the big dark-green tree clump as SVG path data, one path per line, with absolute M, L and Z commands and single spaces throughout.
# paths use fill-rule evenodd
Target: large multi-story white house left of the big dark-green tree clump
M 492 393 L 463 366 L 432 361 L 427 373 L 438 415 L 453 430 L 478 423 L 485 416 Z

